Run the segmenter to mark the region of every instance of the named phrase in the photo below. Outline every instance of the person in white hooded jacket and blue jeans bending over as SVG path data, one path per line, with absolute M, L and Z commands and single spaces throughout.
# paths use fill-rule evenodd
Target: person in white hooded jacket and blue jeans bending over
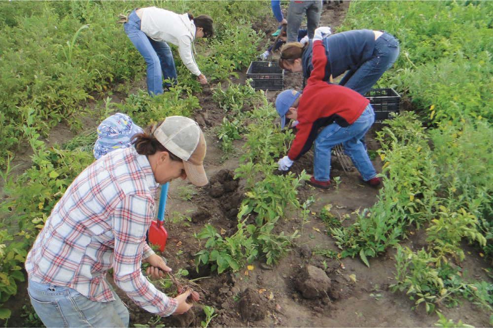
M 195 62 L 192 44 L 197 37 L 212 36 L 211 17 L 200 15 L 194 18 L 191 14 L 179 15 L 157 7 L 137 8 L 123 27 L 147 64 L 147 92 L 151 96 L 163 93 L 162 76 L 173 81 L 166 87 L 176 84 L 175 61 L 166 42 L 178 47 L 185 66 L 201 84 L 207 84 L 207 78 Z

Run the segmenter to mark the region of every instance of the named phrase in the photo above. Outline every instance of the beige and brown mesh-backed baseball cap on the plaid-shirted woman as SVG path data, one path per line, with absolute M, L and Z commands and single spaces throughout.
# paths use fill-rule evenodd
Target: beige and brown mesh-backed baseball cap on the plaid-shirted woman
M 206 140 L 196 121 L 183 116 L 170 116 L 164 119 L 153 134 L 161 145 L 183 160 L 190 182 L 197 186 L 209 182 L 203 166 Z

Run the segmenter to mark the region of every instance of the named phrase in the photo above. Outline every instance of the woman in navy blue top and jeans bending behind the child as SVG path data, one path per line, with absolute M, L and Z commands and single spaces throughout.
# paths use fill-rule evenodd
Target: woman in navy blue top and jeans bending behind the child
M 328 63 L 326 82 L 347 72 L 339 85 L 361 95 L 372 88 L 399 56 L 399 42 L 385 31 L 350 30 L 325 36 L 322 41 Z M 281 49 L 279 66 L 303 72 L 308 79 L 313 70 L 312 42 L 286 43 Z

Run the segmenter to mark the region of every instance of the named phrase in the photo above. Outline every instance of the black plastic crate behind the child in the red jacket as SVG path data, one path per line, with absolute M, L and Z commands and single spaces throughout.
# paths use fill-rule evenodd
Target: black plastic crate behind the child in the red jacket
M 388 113 L 399 113 L 400 95 L 394 89 L 371 89 L 365 94 L 375 110 L 375 122 L 391 119 Z

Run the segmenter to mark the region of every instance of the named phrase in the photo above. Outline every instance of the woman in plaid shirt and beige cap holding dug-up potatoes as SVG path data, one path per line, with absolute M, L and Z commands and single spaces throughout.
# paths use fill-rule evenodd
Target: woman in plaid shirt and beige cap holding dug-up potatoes
M 46 327 L 128 327 L 129 312 L 106 281 L 113 280 L 143 309 L 160 316 L 192 306 L 187 290 L 168 298 L 142 274 L 171 271 L 146 243 L 159 184 L 208 183 L 206 142 L 192 119 L 172 116 L 89 165 L 53 208 L 26 258 L 28 292 Z

